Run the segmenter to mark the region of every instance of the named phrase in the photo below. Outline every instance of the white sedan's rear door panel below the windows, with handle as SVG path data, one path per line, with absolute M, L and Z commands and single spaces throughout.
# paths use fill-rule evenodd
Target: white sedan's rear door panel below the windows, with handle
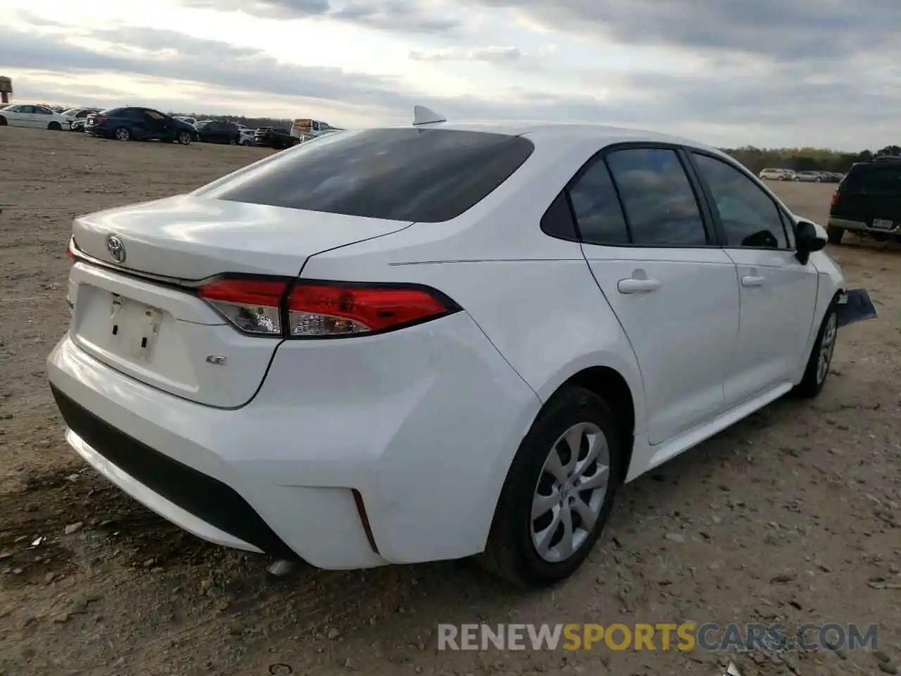
M 718 413 L 739 327 L 733 261 L 718 249 L 583 251 L 638 360 L 650 443 Z

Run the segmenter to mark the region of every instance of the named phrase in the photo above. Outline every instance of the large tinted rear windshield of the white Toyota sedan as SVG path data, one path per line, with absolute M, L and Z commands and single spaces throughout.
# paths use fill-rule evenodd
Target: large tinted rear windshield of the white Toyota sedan
M 532 154 L 520 136 L 375 129 L 323 136 L 195 192 L 329 214 L 441 223 L 509 178 Z

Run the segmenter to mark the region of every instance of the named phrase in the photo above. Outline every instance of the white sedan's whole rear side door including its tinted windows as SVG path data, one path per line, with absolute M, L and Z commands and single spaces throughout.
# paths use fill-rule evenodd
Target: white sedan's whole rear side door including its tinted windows
M 588 265 L 642 371 L 652 444 L 723 408 L 738 333 L 735 265 L 683 162 L 676 147 L 615 150 L 569 189 Z

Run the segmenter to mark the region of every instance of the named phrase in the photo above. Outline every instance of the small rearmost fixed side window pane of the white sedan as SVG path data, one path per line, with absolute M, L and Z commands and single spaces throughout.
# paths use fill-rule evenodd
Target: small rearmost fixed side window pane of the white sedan
M 627 244 L 629 230 L 614 182 L 603 161 L 595 162 L 569 190 L 582 242 Z

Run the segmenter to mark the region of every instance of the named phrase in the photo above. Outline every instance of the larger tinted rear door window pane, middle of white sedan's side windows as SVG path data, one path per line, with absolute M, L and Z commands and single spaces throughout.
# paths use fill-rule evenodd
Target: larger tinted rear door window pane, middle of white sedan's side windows
M 675 151 L 636 148 L 614 151 L 607 165 L 619 188 L 640 246 L 704 246 L 707 237 L 695 193 Z

